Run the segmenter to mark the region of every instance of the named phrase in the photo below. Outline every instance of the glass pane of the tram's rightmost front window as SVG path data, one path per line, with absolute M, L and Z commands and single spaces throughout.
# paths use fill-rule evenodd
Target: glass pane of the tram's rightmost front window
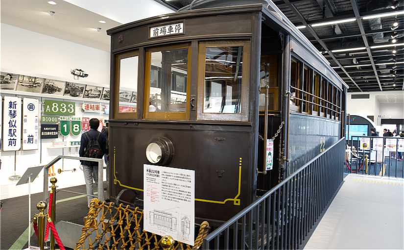
M 205 113 L 240 113 L 243 47 L 206 48 Z

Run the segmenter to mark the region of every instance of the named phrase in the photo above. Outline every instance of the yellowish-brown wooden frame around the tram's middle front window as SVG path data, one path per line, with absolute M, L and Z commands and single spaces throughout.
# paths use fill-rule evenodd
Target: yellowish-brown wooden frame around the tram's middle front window
M 187 101 L 185 103 L 185 112 L 149 112 L 150 99 L 150 71 L 151 71 L 151 53 L 165 50 L 182 50 L 188 49 L 188 70 L 187 70 Z M 143 94 L 143 119 L 145 120 L 169 120 L 169 121 L 187 121 L 190 120 L 190 79 L 191 79 L 191 44 L 176 44 L 168 46 L 158 46 L 147 48 L 145 51 L 144 63 L 144 94 Z M 172 76 L 170 76 L 172 77 Z M 170 82 L 171 91 L 171 82 Z

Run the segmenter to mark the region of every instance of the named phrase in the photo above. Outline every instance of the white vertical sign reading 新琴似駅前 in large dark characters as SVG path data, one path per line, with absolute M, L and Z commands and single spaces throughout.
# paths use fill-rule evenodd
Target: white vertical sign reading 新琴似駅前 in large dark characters
M 21 149 L 21 98 L 4 97 L 3 102 L 3 151 Z

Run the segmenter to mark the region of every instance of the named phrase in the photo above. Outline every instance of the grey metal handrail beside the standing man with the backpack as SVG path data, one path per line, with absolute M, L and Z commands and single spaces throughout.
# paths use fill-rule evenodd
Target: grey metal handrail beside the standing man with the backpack
M 48 199 L 48 168 L 58 162 L 60 159 L 71 159 L 71 160 L 81 160 L 81 161 L 93 161 L 98 163 L 98 183 L 97 183 L 97 198 L 98 200 L 104 200 L 103 192 L 104 188 L 102 186 L 103 182 L 103 163 L 102 159 L 96 158 L 88 158 L 88 157 L 79 157 L 79 156 L 68 156 L 68 155 L 59 155 L 51 160 L 48 164 L 40 165 L 44 167 L 44 200 Z

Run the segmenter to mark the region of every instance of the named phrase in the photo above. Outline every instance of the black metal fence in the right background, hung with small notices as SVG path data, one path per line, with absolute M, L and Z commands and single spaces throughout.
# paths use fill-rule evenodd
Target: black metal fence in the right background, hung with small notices
M 404 178 L 404 138 L 351 136 L 345 173 Z

